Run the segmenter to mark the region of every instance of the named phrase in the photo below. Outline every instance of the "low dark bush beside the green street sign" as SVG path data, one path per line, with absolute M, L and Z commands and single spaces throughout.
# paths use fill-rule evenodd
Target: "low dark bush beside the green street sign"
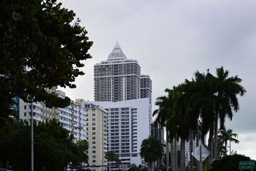
M 209 171 L 239 171 L 239 162 L 250 160 L 250 157 L 246 157 L 245 155 L 227 155 L 219 160 L 214 160 L 212 168 Z

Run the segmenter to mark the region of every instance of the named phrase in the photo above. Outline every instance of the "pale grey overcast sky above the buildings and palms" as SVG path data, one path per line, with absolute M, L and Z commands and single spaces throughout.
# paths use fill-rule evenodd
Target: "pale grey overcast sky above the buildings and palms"
M 256 1 L 255 0 L 58 0 L 72 9 L 88 31 L 93 58 L 71 99 L 93 100 L 93 65 L 106 61 L 116 41 L 153 81 L 153 103 L 195 71 L 215 74 L 221 66 L 242 78 L 247 93 L 226 122 L 239 135 L 232 150 L 256 160 Z M 153 105 L 153 110 L 157 106 Z

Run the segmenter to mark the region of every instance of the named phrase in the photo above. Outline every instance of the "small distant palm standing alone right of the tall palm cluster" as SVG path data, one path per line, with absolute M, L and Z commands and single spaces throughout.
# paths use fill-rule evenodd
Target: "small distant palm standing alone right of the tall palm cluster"
M 239 143 L 239 140 L 236 139 L 238 138 L 237 133 L 233 133 L 233 130 L 231 129 L 220 130 L 219 135 L 217 135 L 217 137 L 219 139 L 219 143 L 222 143 L 224 145 L 224 156 L 227 155 L 227 141 Z

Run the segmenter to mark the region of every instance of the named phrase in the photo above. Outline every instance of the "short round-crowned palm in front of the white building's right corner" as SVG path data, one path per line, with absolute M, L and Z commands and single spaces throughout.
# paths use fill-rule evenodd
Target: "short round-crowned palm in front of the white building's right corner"
M 151 136 L 143 140 L 140 146 L 140 156 L 144 158 L 145 162 L 148 162 L 148 171 L 153 171 L 153 162 L 163 156 L 163 145 L 160 140 Z

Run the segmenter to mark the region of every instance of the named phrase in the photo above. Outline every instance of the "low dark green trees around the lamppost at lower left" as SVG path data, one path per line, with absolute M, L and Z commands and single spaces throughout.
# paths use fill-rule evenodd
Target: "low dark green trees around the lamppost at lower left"
M 29 123 L 19 121 L 15 124 L 11 142 L 3 142 L 0 147 L 0 160 L 11 170 L 29 170 L 31 152 L 31 129 Z M 88 162 L 85 151 L 88 142 L 73 142 L 73 135 L 62 128 L 57 120 L 34 124 L 34 170 L 63 170 L 66 165 Z

